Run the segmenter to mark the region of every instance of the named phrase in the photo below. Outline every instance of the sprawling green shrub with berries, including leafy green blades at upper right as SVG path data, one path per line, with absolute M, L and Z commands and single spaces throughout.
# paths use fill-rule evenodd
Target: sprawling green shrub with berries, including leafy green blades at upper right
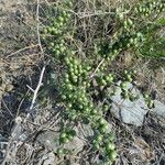
M 128 50 L 144 56 L 148 55 L 148 50 L 153 46 L 157 54 L 152 56 L 162 56 L 160 54 L 164 52 L 157 47 L 162 46 L 164 41 L 152 43 L 154 35 L 150 34 L 153 34 L 155 29 L 154 24 L 150 23 L 164 11 L 164 2 L 140 1 L 129 11 L 127 8 L 111 9 L 112 14 L 109 13 L 108 16 L 112 18 L 113 32 L 107 37 L 96 28 L 98 35 L 87 37 L 87 41 L 84 41 L 80 34 L 85 33 L 81 28 L 74 25 L 75 22 L 81 22 L 81 18 L 75 15 L 78 2 L 67 0 L 53 7 L 56 15 L 50 19 L 50 25 L 43 30 L 43 42 L 46 44 L 47 53 L 62 68 L 58 103 L 63 105 L 63 117 L 67 123 L 63 123 L 59 142 L 65 144 L 76 136 L 74 128 L 77 123 L 89 124 L 95 132 L 89 141 L 91 150 L 99 151 L 105 162 L 110 163 L 117 158 L 114 138 L 109 132 L 109 121 L 105 118 L 111 108 L 111 96 L 116 95 L 116 89 L 120 87 L 123 99 L 138 99 L 138 96 L 127 89 L 128 82 L 134 81 L 136 70 L 124 70 L 121 77 L 111 72 L 110 64 Z M 98 26 L 100 22 L 107 24 L 107 14 L 91 15 L 91 20 L 85 18 L 84 21 L 92 22 L 92 19 Z M 82 43 L 84 54 L 79 52 L 79 43 Z M 145 95 L 144 98 L 148 108 L 152 108 L 154 102 L 150 96 Z M 59 148 L 58 153 L 64 152 Z

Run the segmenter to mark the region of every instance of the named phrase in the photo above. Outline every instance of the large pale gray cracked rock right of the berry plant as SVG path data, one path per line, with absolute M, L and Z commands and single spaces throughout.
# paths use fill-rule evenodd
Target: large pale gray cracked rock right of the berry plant
M 131 84 L 128 84 L 129 88 L 132 88 Z M 123 100 L 121 98 L 121 89 L 118 88 L 117 94 L 112 97 L 112 112 L 124 123 L 139 127 L 143 123 L 144 116 L 148 109 L 143 96 L 138 89 L 133 89 L 132 94 L 139 95 L 139 99 L 133 102 L 129 99 Z

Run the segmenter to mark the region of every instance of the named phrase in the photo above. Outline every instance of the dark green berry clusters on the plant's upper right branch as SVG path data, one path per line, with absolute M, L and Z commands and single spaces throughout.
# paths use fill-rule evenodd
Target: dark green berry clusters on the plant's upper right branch
M 144 14 L 144 16 L 152 14 L 152 12 L 160 13 L 164 11 L 165 3 L 160 1 L 152 2 L 143 2 L 139 4 L 139 7 L 133 8 L 134 13 L 136 11 L 135 18 L 138 13 Z M 122 51 L 128 48 L 140 47 L 145 40 L 145 23 L 144 28 L 139 26 L 139 21 L 136 19 L 130 19 L 129 15 L 124 15 L 122 12 L 117 12 L 117 20 L 120 22 L 120 32 L 117 34 L 116 40 L 112 42 L 103 42 L 102 45 L 99 45 L 99 54 L 107 59 L 114 59 Z M 141 23 L 140 23 L 141 24 Z M 148 29 L 148 26 L 147 26 Z

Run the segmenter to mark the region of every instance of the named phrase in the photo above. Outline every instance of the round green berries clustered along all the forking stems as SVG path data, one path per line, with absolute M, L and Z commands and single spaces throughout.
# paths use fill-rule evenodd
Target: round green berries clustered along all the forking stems
M 65 9 L 73 8 L 73 2 L 69 0 L 59 3 L 62 3 Z M 146 15 L 154 10 L 163 11 L 164 3 L 163 1 L 150 2 L 139 6 L 135 10 Z M 68 11 L 69 10 L 64 10 L 64 8 L 57 8 L 57 15 L 53 19 L 53 23 L 44 30 L 45 34 L 48 34 L 48 38 L 51 38 L 47 40 L 47 43 L 48 48 L 53 53 L 53 57 L 59 61 L 59 64 L 64 66 L 59 85 L 59 98 L 65 109 L 64 116 L 62 116 L 65 118 L 65 122 L 59 133 L 59 142 L 61 144 L 65 144 L 74 140 L 77 134 L 73 128 L 75 128 L 77 123 L 89 124 L 95 132 L 91 138 L 92 148 L 99 151 L 106 161 L 113 162 L 117 158 L 114 138 L 109 131 L 109 123 L 103 114 L 110 109 L 111 102 L 109 100 L 111 96 L 114 95 L 116 87 L 121 88 L 121 96 L 124 99 L 130 99 L 131 101 L 138 99 L 138 96 L 134 96 L 128 88 L 128 84 L 134 81 L 136 70 L 124 70 L 123 77 L 119 78 L 116 74 L 109 72 L 108 66 L 110 64 L 109 62 L 119 53 L 131 47 L 139 47 L 144 41 L 144 34 L 141 29 L 136 28 L 136 22 L 131 16 L 129 18 L 119 13 L 117 20 L 122 22 L 121 31 L 118 33 L 119 36 L 111 42 L 106 41 L 96 47 L 96 54 L 99 54 L 97 57 L 99 61 L 100 58 L 103 59 L 103 63 L 99 66 L 97 64 L 98 58 L 96 61 L 95 57 L 92 59 L 94 64 L 91 64 L 91 62 L 89 62 L 89 64 L 86 59 L 84 61 L 78 57 L 78 53 L 76 54 L 73 51 L 74 46 L 68 44 L 68 38 L 65 37 L 65 33 L 69 33 L 67 26 L 72 18 Z M 100 40 L 100 43 L 101 41 L 102 40 Z M 90 58 L 88 61 L 90 61 Z M 96 70 L 96 68 L 94 68 L 95 65 L 99 67 L 95 75 L 91 76 Z M 117 84 L 119 80 L 121 80 L 120 85 Z M 99 99 L 95 95 L 97 95 Z M 100 96 L 107 99 L 107 102 L 103 102 Z M 145 95 L 144 98 L 148 108 L 153 108 L 154 103 L 151 98 L 147 95 Z M 99 107 L 98 105 L 100 102 L 103 103 Z M 65 125 L 66 123 L 68 127 Z M 67 154 L 68 151 L 58 148 L 57 153 Z

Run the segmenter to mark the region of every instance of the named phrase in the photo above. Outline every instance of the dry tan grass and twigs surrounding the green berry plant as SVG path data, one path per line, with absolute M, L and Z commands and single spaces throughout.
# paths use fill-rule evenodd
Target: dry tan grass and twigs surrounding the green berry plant
M 53 3 L 59 2 L 61 1 L 45 0 L 40 3 L 40 9 L 44 11 L 44 6 L 52 6 Z M 82 0 L 78 2 L 77 12 L 74 13 L 75 18 L 77 16 L 78 19 L 73 21 L 73 36 L 68 36 L 68 41 L 76 46 L 84 58 L 88 59 L 88 54 L 90 54 L 88 50 L 95 45 L 92 41 L 97 41 L 101 37 L 110 37 L 116 33 L 116 29 L 113 28 L 117 23 L 107 15 L 110 9 L 118 7 L 122 10 L 123 3 L 127 3 L 128 8 L 130 8 L 138 0 L 100 0 L 101 9 L 96 8 L 96 0 Z M 15 4 L 15 7 L 11 3 L 6 3 L 3 8 L 6 10 L 3 10 L 3 16 L 0 22 L 0 78 L 2 79 L 2 84 L 0 82 L 0 128 L 3 128 L 0 130 L 0 133 L 7 138 L 11 136 L 11 128 L 16 116 L 21 116 L 23 121 L 26 119 L 25 109 L 22 105 L 24 102 L 29 106 L 26 101 L 30 99 L 30 96 L 32 96 L 26 84 L 33 87 L 36 86 L 41 65 L 43 65 L 43 62 L 48 57 L 48 55 L 44 56 L 40 50 L 35 7 L 36 3 L 34 1 L 29 4 Z M 20 12 L 16 13 L 18 10 Z M 9 13 L 7 14 L 7 12 Z M 19 13 L 21 13 L 23 18 L 16 15 Z M 98 15 L 99 19 L 97 18 Z M 102 16 L 107 19 L 105 24 L 102 24 Z M 40 16 L 40 21 L 42 29 L 42 26 L 45 25 L 46 19 Z M 97 32 L 98 24 L 100 24 L 99 29 L 101 33 Z M 79 32 L 78 38 L 74 37 L 75 31 Z M 138 85 L 143 86 L 150 92 L 156 91 L 158 99 L 165 102 L 165 67 L 162 66 L 153 70 L 150 69 L 148 64 L 142 63 L 141 59 L 136 62 L 136 59 L 138 58 L 132 56 L 131 52 L 128 52 L 121 55 L 118 62 L 112 64 L 112 66 L 118 67 L 117 73 L 130 67 L 136 68 L 139 70 Z M 22 78 L 24 81 L 22 81 Z M 4 95 L 9 96 L 9 100 Z M 36 138 L 43 130 L 52 131 L 55 129 L 55 121 L 57 121 L 58 113 L 54 113 L 51 101 L 52 100 L 47 99 L 45 105 L 41 102 L 42 106 L 44 105 L 43 107 L 36 107 L 38 110 L 37 117 L 40 117 L 38 123 L 34 123 L 31 120 L 21 123 L 21 128 L 24 129 L 23 134 L 29 134 L 29 138 L 23 143 L 19 141 L 20 143 L 18 143 L 14 153 L 15 160 L 13 158 L 16 162 L 15 164 L 37 164 L 40 162 L 38 160 L 42 160 L 44 155 L 50 153 L 48 148 L 40 145 Z M 28 108 L 28 106 L 25 107 Z M 45 117 L 45 114 L 47 116 Z M 160 124 L 160 119 L 148 113 L 145 123 L 140 128 L 125 125 L 114 117 L 110 117 L 109 121 L 112 123 L 113 130 L 117 133 L 116 144 L 119 158 L 116 165 L 150 165 L 152 162 L 158 165 L 165 146 L 165 141 L 162 138 L 165 134 L 165 128 Z M 86 151 L 87 150 L 79 153 L 79 155 L 74 158 L 77 162 L 82 162 L 81 160 L 84 160 Z M 63 160 L 57 156 L 55 157 L 56 164 L 57 162 L 62 163 L 65 161 L 65 157 Z M 86 161 L 84 161 L 84 163 L 86 163 Z

